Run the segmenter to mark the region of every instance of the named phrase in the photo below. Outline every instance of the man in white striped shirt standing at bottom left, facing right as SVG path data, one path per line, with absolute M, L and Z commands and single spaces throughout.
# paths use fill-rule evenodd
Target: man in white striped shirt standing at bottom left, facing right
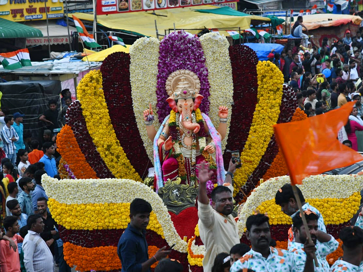
M 44 222 L 40 214 L 29 216 L 29 228 L 23 241 L 24 266 L 27 272 L 53 272 L 53 255 L 45 241 L 40 237 Z

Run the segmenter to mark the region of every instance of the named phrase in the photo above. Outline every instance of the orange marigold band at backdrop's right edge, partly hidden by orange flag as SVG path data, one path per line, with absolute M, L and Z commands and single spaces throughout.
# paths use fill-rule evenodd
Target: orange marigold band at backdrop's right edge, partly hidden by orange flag
M 295 110 L 293 118 L 291 119 L 291 122 L 301 121 L 306 118 L 307 118 L 307 115 L 305 114 L 305 112 L 302 111 L 300 108 L 297 108 Z M 264 174 L 263 179 L 268 180 L 269 178 L 284 176 L 286 174 L 287 174 L 287 168 L 286 168 L 285 160 L 284 160 L 284 157 L 282 157 L 281 151 L 279 150 L 279 152 L 277 153 L 276 157 L 274 158 L 270 168 Z

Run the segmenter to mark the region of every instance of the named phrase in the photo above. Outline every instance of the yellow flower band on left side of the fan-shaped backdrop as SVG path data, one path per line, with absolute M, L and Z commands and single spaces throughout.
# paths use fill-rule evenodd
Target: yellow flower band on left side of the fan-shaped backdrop
M 86 74 L 79 82 L 77 92 L 87 129 L 107 167 L 117 178 L 141 182 L 142 179 L 130 164 L 112 127 L 102 90 L 101 71 L 92 70 Z

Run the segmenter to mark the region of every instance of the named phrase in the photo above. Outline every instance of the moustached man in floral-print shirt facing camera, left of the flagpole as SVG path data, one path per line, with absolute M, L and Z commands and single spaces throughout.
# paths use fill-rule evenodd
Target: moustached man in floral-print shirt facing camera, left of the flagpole
M 259 272 L 299 271 L 289 251 L 270 247 L 271 233 L 267 216 L 263 214 L 249 216 L 246 221 L 246 228 L 246 238 L 251 242 L 252 249 L 243 255 L 241 259 L 234 262 L 230 272 L 237 272 L 244 268 Z M 312 254 L 315 251 L 314 243 L 306 243 L 304 250 L 309 258 L 312 259 Z M 313 270 L 307 266 L 304 272 L 311 272 Z

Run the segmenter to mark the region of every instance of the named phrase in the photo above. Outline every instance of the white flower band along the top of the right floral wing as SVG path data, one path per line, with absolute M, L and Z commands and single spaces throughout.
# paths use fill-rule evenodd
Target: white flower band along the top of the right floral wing
M 244 232 L 247 218 L 262 202 L 275 198 L 276 192 L 284 184 L 290 183 L 289 176 L 270 178 L 256 187 L 239 213 L 237 222 L 240 235 Z M 348 198 L 363 188 L 363 175 L 317 175 L 304 178 L 298 185 L 304 198 Z M 317 207 L 319 209 L 319 207 Z

